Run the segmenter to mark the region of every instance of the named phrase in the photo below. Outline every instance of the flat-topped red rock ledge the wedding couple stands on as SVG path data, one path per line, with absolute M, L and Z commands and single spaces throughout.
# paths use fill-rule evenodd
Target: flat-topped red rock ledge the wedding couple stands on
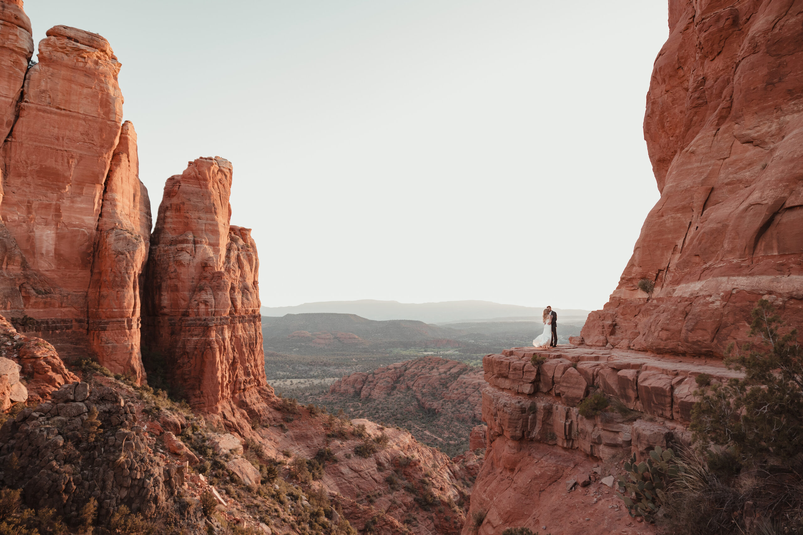
M 534 363 L 534 355 L 545 361 Z M 518 526 L 535 531 L 542 525 L 551 533 L 579 535 L 588 533 L 585 517 L 606 526 L 606 533 L 630 533 L 630 517 L 601 478 L 622 473 L 614 463 L 631 453 L 642 460 L 655 446 L 690 445 L 686 426 L 695 402 L 695 377 L 707 373 L 713 382 L 724 383 L 739 376 L 718 358 L 583 346 L 505 350 L 484 357 L 483 369 L 488 444 L 469 513 L 487 511 L 480 535 Z M 613 403 L 599 415 L 581 415 L 577 405 L 592 387 L 618 403 L 619 410 Z M 479 436 L 472 440 L 481 444 Z M 594 483 L 584 496 L 593 494 L 595 500 L 566 497 L 565 480 L 586 476 Z M 566 510 L 577 518 L 561 516 Z M 468 533 L 470 525 L 463 528 Z

